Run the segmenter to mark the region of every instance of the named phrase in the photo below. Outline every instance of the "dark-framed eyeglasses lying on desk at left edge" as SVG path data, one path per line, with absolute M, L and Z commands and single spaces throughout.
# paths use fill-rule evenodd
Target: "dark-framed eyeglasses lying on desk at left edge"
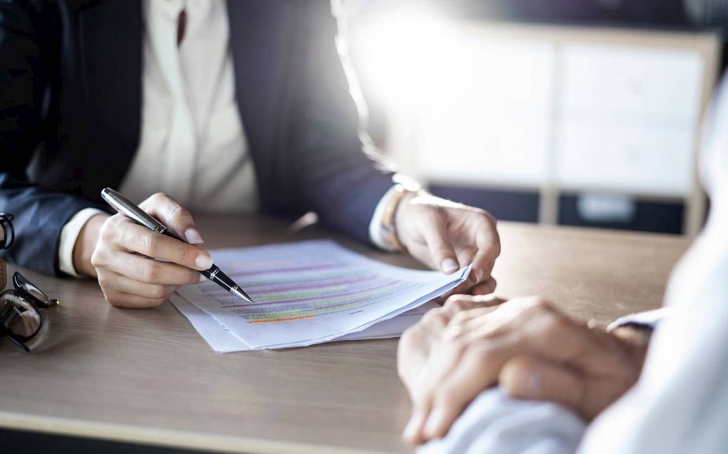
M 43 326 L 43 315 L 39 309 L 58 306 L 60 302 L 49 298 L 19 272 L 12 275 L 12 284 L 14 289 L 0 293 L 0 337 L 7 337 L 25 352 L 30 352 L 25 343 L 33 339 Z

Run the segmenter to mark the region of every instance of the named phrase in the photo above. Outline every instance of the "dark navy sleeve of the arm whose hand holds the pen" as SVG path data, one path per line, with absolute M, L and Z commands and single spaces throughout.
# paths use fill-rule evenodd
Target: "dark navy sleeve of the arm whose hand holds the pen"
M 55 12 L 57 13 L 57 11 Z M 56 14 L 57 16 L 57 14 Z M 60 230 L 77 211 L 93 206 L 33 184 L 26 176 L 44 138 L 52 68 L 54 12 L 41 1 L 0 2 L 0 212 L 13 214 L 9 262 L 58 274 Z

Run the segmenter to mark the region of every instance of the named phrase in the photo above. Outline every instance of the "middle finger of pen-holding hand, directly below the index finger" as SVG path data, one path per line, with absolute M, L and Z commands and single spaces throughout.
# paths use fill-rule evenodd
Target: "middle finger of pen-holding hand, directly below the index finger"
M 108 262 L 108 263 L 106 263 Z M 151 284 L 187 285 L 199 282 L 201 276 L 194 269 L 170 262 L 159 262 L 128 253 L 111 254 L 103 266 L 119 275 Z

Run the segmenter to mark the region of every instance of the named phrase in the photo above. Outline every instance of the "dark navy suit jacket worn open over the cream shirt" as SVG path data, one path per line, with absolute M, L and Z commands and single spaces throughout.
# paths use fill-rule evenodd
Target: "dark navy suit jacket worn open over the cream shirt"
M 261 209 L 365 240 L 391 174 L 365 155 L 328 0 L 231 0 L 237 104 Z M 129 169 L 141 131 L 140 0 L 0 2 L 4 256 L 58 273 L 60 230 Z

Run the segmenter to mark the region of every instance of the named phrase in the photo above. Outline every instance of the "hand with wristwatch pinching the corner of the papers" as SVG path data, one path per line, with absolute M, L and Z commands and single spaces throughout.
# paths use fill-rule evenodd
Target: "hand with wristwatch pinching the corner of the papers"
M 454 293 L 495 290 L 491 271 L 500 254 L 496 222 L 486 211 L 433 195 L 407 195 L 395 215 L 397 237 L 432 269 L 451 273 L 472 262 L 470 279 Z

